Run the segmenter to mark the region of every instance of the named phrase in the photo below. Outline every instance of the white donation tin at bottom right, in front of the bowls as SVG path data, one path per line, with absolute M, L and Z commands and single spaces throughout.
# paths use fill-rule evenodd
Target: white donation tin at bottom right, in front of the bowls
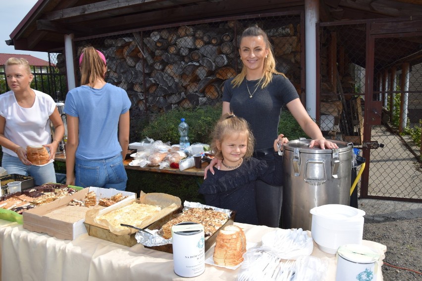
M 336 281 L 375 281 L 380 254 L 361 244 L 342 245 L 337 250 Z

